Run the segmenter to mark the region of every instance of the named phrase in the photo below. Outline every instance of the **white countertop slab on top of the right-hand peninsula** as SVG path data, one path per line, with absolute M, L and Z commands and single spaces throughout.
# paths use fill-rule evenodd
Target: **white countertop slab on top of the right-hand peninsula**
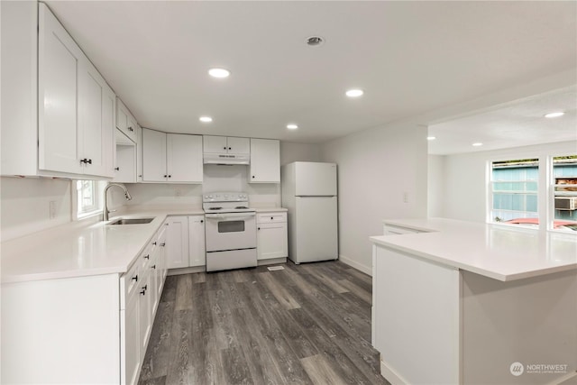
M 495 280 L 521 280 L 577 270 L 577 235 L 444 218 L 391 219 L 418 234 L 371 236 L 389 249 Z

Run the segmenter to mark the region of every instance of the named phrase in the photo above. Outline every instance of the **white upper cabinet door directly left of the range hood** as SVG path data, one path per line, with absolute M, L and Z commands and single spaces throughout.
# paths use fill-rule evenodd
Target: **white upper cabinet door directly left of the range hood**
M 167 134 L 169 182 L 202 183 L 202 136 Z

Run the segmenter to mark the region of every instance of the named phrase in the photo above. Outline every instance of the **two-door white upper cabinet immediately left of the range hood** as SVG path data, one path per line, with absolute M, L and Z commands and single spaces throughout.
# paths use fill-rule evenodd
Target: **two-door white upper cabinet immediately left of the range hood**
M 202 183 L 202 136 L 142 129 L 142 181 Z

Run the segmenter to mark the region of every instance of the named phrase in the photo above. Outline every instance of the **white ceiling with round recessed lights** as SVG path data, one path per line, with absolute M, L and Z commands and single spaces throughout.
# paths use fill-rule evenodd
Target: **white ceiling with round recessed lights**
M 576 2 L 46 3 L 139 123 L 171 133 L 326 142 L 577 68 Z M 325 43 L 307 46 L 312 35 Z M 364 96 L 344 96 L 351 87 Z M 565 96 L 574 124 L 574 88 Z M 512 143 L 533 121 L 499 122 L 542 107 L 435 130 Z

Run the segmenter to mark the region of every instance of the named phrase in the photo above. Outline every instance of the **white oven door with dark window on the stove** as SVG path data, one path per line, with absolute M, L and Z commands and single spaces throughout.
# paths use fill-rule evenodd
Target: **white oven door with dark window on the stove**
M 256 247 L 255 213 L 206 214 L 206 252 Z

